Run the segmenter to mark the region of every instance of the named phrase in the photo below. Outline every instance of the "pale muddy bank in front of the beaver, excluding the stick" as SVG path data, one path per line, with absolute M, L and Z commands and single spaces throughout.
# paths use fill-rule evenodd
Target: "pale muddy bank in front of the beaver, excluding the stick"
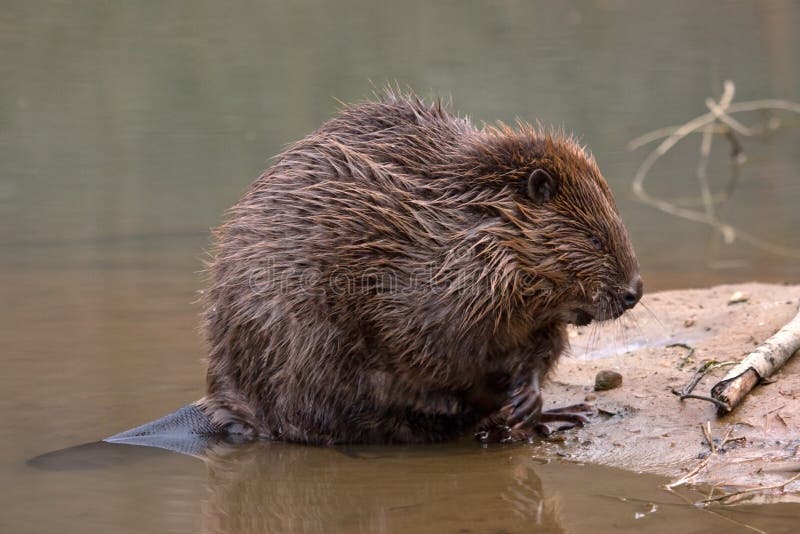
M 734 294 L 740 298 L 732 299 Z M 599 414 L 584 428 L 537 447 L 547 455 L 673 480 L 702 465 L 690 482 L 727 492 L 791 479 L 800 472 L 800 357 L 722 418 L 712 404 L 681 401 L 671 390 L 681 389 L 709 360 L 741 360 L 792 319 L 799 303 L 800 286 L 751 283 L 666 291 L 646 295 L 628 319 L 575 329 L 571 356 L 561 360 L 545 386 L 545 406 L 588 400 Z M 621 387 L 594 391 L 601 370 L 621 373 Z M 707 395 L 726 371 L 710 372 L 695 392 Z M 709 421 L 715 448 L 729 438 L 715 454 L 701 430 Z M 758 494 L 760 500 L 800 501 L 800 480 L 783 493 Z

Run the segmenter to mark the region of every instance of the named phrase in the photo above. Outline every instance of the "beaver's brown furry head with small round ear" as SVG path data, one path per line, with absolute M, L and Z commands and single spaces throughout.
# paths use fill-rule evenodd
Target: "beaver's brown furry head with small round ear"
M 513 287 L 529 295 L 532 311 L 586 325 L 639 302 L 633 247 L 586 150 L 571 137 L 527 125 L 485 129 L 473 147 L 472 172 L 480 176 L 473 185 L 496 221 L 489 227 L 493 262 L 516 267 Z

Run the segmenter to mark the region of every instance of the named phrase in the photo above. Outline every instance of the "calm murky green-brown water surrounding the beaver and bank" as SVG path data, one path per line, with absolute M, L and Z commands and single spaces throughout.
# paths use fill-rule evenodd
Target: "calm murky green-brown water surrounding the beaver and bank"
M 3 2 L 0 531 L 744 531 L 659 479 L 539 465 L 526 446 L 354 457 L 271 444 L 206 466 L 165 453 L 59 472 L 25 460 L 202 394 L 194 301 L 209 227 L 270 156 L 334 98 L 368 96 L 370 80 L 452 96 L 476 120 L 579 133 L 648 289 L 798 282 L 796 259 L 722 245 L 636 203 L 629 182 L 647 152 L 625 148 L 703 113 L 727 78 L 737 99 L 800 100 L 798 27 L 789 1 Z M 722 214 L 800 248 L 800 124 L 780 116 L 786 128 L 742 140 L 749 161 Z M 721 187 L 727 148 L 715 146 Z M 676 147 L 653 190 L 697 195 L 698 152 L 697 138 Z M 792 505 L 725 514 L 768 532 L 800 520 Z

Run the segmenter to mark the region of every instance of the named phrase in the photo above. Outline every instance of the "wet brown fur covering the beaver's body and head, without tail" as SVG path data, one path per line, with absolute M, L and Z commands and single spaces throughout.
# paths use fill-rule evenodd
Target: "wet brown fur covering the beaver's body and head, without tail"
M 551 200 L 528 196 L 537 168 Z M 281 154 L 216 240 L 201 406 L 309 443 L 474 429 L 553 366 L 575 310 L 622 313 L 638 270 L 574 139 L 392 91 Z

